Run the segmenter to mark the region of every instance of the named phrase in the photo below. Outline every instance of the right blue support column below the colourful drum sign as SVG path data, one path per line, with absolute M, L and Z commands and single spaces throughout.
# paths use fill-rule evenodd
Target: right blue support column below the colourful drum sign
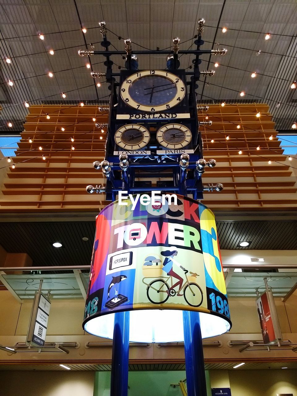
M 199 312 L 183 311 L 188 396 L 207 396 Z

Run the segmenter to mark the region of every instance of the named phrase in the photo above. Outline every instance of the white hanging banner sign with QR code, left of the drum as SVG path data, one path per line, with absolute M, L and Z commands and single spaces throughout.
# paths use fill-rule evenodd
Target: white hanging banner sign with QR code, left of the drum
M 41 292 L 36 292 L 31 311 L 27 343 L 44 346 L 50 307 L 51 303 L 49 300 Z

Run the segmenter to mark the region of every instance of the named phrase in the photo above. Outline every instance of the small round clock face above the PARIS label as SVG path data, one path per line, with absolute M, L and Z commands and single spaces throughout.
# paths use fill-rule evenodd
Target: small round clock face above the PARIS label
M 161 146 L 178 149 L 187 146 L 192 139 L 190 129 L 180 124 L 167 124 L 157 132 L 157 140 Z

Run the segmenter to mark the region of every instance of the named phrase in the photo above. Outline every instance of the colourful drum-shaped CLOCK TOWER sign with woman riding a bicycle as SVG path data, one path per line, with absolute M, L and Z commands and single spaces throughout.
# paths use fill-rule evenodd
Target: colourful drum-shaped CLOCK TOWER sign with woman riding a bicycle
M 204 337 L 230 329 L 215 217 L 197 201 L 177 198 L 177 205 L 170 200 L 142 205 L 138 200 L 134 210 L 128 198 L 128 206 L 113 202 L 97 216 L 83 324 L 86 331 L 102 335 L 104 330 L 104 337 L 109 337 L 109 319 L 104 318 L 102 329 L 100 316 L 124 310 L 142 310 L 137 313 L 145 315 L 138 320 L 137 326 L 143 327 L 137 339 L 144 339 L 141 337 L 154 326 L 152 310 L 159 315 L 163 312 L 159 324 L 169 315 L 165 310 L 201 312 Z M 164 326 L 168 327 L 168 320 Z M 180 319 L 171 317 L 171 321 L 172 329 Z M 152 334 L 156 341 L 157 332 L 152 329 Z M 163 333 L 160 329 L 160 337 L 168 340 L 169 329 Z

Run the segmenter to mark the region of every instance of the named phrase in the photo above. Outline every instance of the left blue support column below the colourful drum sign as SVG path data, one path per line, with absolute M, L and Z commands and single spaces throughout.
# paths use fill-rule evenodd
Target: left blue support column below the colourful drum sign
M 128 395 L 130 312 L 114 314 L 110 396 Z

